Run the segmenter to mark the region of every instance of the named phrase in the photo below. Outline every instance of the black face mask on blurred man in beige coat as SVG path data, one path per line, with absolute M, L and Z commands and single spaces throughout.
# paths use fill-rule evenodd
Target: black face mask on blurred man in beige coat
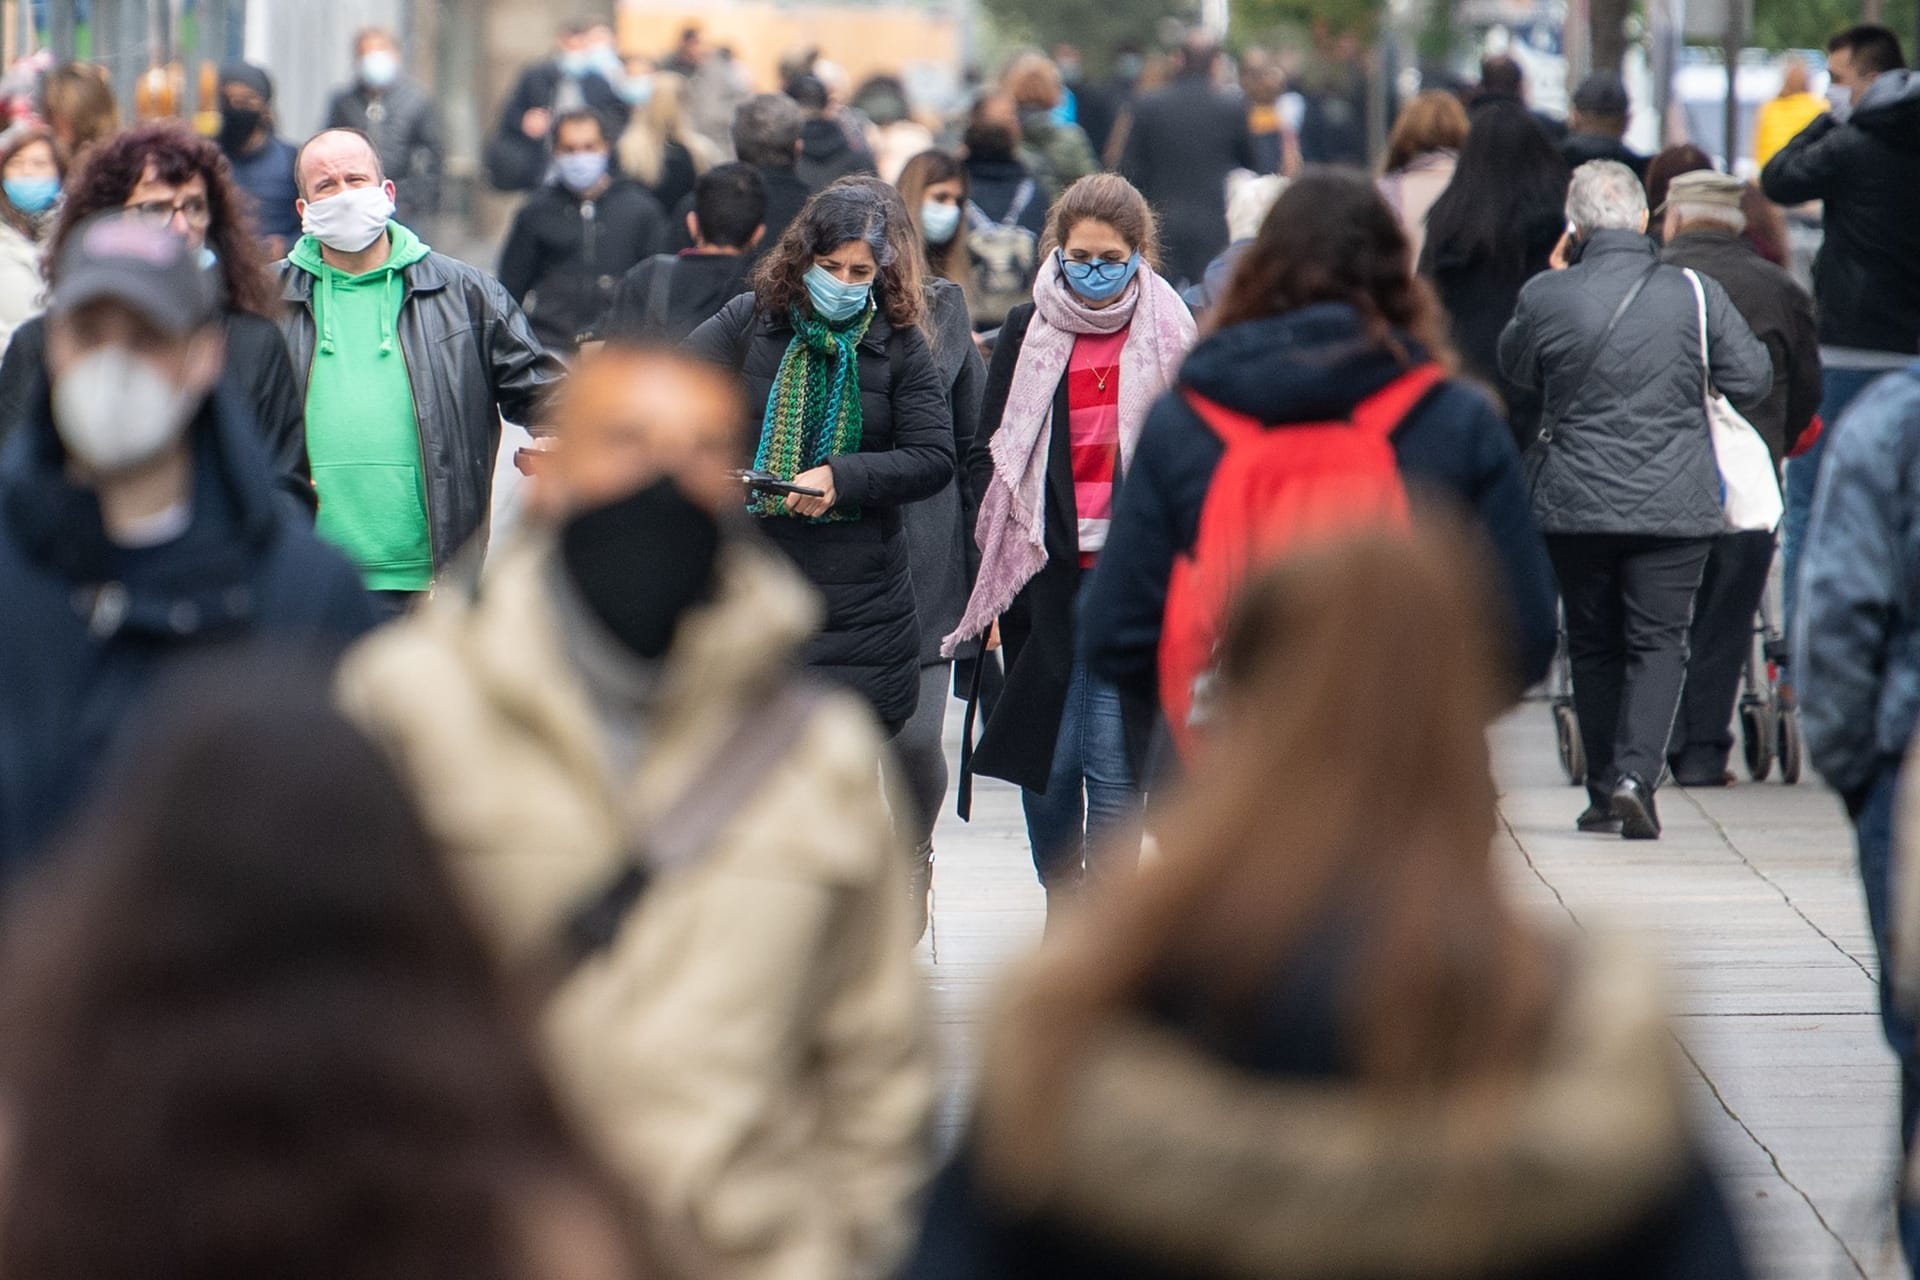
M 680 618 L 712 599 L 720 522 L 672 478 L 582 510 L 561 528 L 561 562 L 593 616 L 641 658 L 662 658 Z

